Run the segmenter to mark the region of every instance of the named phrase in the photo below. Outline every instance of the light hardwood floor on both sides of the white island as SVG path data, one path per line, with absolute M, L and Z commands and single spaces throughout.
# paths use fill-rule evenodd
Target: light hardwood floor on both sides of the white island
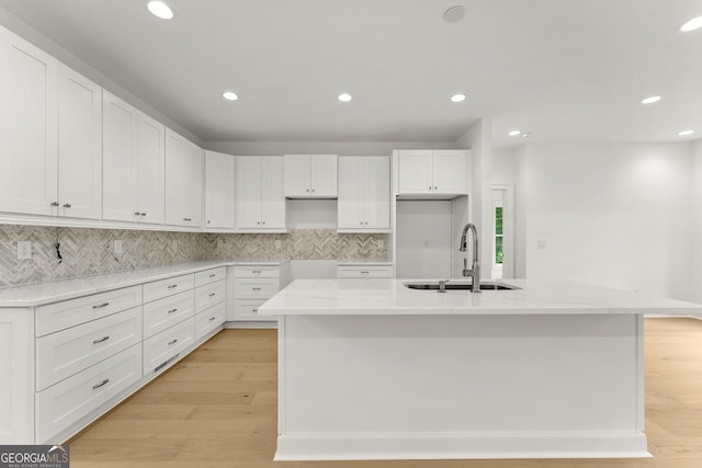
M 702 321 L 646 319 L 653 458 L 274 463 L 276 334 L 225 330 L 70 441 L 73 468 L 702 468 Z

